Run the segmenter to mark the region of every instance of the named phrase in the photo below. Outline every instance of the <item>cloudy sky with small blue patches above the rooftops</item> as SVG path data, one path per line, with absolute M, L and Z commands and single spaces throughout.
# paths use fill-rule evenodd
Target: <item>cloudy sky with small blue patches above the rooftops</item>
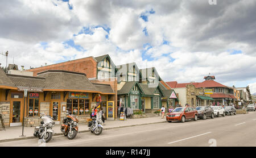
M 25 69 L 108 53 L 166 82 L 210 73 L 256 93 L 256 1 L 210 1 L 2 0 L 0 53 Z

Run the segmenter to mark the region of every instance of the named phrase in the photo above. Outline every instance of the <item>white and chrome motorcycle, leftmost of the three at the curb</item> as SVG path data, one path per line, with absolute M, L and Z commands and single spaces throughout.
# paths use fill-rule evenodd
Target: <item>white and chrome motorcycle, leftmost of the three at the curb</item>
M 46 115 L 44 113 L 39 113 L 42 116 L 40 118 L 42 121 L 40 122 L 39 126 L 35 127 L 34 130 L 34 136 L 43 139 L 44 142 L 49 142 L 52 139 L 53 130 L 52 127 L 54 127 L 55 122 L 53 121 L 53 118 L 50 115 Z

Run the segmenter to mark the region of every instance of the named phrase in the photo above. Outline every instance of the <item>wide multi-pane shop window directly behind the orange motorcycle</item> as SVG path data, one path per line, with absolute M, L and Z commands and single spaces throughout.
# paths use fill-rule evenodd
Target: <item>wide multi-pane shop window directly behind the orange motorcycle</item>
M 67 99 L 67 110 L 69 114 L 84 115 L 89 113 L 88 99 Z

